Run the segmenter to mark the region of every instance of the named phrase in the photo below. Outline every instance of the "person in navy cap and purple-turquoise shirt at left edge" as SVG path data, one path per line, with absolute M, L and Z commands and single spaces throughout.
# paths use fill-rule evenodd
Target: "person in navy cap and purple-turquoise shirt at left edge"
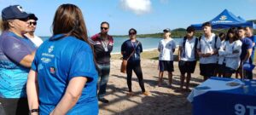
M 36 47 L 24 36 L 29 31 L 27 14 L 20 5 L 2 10 L 0 36 L 0 102 L 7 115 L 27 115 L 26 80 Z M 38 109 L 38 108 L 34 108 Z

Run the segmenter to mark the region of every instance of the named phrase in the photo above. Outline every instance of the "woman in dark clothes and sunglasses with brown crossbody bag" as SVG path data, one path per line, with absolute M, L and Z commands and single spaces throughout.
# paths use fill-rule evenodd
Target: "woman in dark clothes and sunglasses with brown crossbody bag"
M 121 46 L 121 53 L 124 60 L 127 61 L 126 74 L 127 74 L 127 85 L 129 89 L 128 95 L 134 95 L 131 90 L 131 75 L 132 70 L 135 72 L 138 78 L 139 85 L 143 91 L 143 95 L 151 95 L 150 92 L 146 91 L 143 82 L 143 72 L 141 67 L 140 55 L 143 52 L 142 43 L 136 39 L 137 31 L 134 28 L 129 30 L 129 40 L 126 40 Z

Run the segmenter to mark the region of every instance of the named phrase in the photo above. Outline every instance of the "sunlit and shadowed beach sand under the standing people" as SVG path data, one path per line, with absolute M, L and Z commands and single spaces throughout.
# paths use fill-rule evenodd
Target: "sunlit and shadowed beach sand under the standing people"
M 177 52 L 177 51 L 176 51 Z M 167 72 L 164 73 L 162 87 L 157 86 L 158 81 L 158 52 L 156 50 L 145 51 L 142 54 L 142 69 L 145 89 L 151 92 L 151 96 L 142 95 L 137 82 L 137 77 L 132 74 L 132 90 L 134 96 L 128 96 L 126 74 L 119 72 L 121 55 L 112 55 L 111 71 L 107 87 L 106 99 L 108 104 L 99 102 L 100 115 L 190 115 L 192 105 L 187 101 L 189 92 L 177 91 L 179 88 L 180 72 L 177 61 L 174 62 L 172 88 L 168 84 Z M 202 82 L 199 75 L 199 63 L 195 73 L 192 74 L 190 88 L 194 88 Z M 255 70 L 253 76 L 255 77 Z

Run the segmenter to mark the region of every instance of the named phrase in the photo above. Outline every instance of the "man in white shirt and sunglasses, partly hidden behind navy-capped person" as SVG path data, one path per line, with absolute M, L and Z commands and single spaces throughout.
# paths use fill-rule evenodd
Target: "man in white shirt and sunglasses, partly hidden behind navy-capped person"
M 27 20 L 29 32 L 27 32 L 25 36 L 28 37 L 38 48 L 43 43 L 43 40 L 34 34 L 37 27 L 37 20 L 38 17 L 35 14 L 29 16 L 29 20 Z

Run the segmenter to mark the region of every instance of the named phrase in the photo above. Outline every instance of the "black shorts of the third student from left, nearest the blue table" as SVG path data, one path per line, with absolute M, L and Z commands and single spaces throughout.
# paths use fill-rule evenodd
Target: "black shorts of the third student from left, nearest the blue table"
M 204 77 L 213 77 L 217 64 L 200 64 L 200 75 Z

